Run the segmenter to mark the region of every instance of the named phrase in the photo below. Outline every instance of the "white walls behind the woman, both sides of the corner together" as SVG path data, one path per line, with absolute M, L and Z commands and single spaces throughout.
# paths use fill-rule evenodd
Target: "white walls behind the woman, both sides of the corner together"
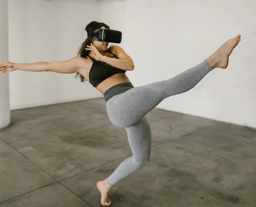
M 8 6 L 9 61 L 70 59 L 86 38 L 86 24 L 102 21 L 123 32 L 119 45 L 135 62 L 127 73 L 134 86 L 171 78 L 241 34 L 227 69 L 215 69 L 157 108 L 256 128 L 254 0 L 8 0 Z M 11 109 L 102 97 L 75 74 L 9 75 Z

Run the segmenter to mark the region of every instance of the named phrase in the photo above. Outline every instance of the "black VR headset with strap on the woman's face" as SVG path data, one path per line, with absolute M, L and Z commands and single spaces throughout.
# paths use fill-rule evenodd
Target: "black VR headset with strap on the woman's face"
M 122 32 L 113 29 L 95 29 L 94 32 L 87 32 L 87 37 L 93 37 L 101 42 L 121 43 Z

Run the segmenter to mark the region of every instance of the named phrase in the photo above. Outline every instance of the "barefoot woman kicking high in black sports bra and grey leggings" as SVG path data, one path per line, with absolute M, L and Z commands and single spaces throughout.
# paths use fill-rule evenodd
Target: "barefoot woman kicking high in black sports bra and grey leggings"
M 104 23 L 91 22 L 87 32 L 109 28 Z M 240 35 L 229 39 L 209 58 L 173 78 L 133 87 L 125 75 L 134 69 L 132 59 L 119 46 L 108 47 L 108 42 L 96 41 L 91 37 L 82 43 L 77 57 L 58 62 L 0 64 L 0 71 L 53 71 L 76 73 L 81 82 L 89 82 L 99 90 L 106 100 L 110 121 L 127 131 L 132 156 L 121 162 L 105 180 L 97 182 L 101 193 L 101 204 L 111 205 L 109 190 L 120 180 L 147 165 L 150 158 L 151 130 L 146 114 L 162 100 L 192 89 L 214 68 L 227 68 L 232 50 L 240 42 Z

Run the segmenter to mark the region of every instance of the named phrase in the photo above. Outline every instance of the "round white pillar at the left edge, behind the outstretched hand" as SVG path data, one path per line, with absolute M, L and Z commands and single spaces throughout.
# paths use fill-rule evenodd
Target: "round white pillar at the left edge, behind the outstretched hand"
M 8 0 L 0 0 L 0 63 L 8 61 Z M 0 129 L 10 124 L 9 72 L 0 72 Z

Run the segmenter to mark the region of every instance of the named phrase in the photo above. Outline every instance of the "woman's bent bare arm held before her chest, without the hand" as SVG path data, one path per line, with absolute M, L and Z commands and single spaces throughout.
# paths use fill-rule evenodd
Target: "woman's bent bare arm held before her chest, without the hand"
M 106 62 L 109 65 L 122 69 L 122 70 L 133 70 L 134 69 L 134 63 L 130 56 L 126 54 L 126 52 L 119 46 L 114 46 L 113 49 L 115 49 L 116 58 L 109 58 L 107 56 L 102 56 L 100 61 Z

